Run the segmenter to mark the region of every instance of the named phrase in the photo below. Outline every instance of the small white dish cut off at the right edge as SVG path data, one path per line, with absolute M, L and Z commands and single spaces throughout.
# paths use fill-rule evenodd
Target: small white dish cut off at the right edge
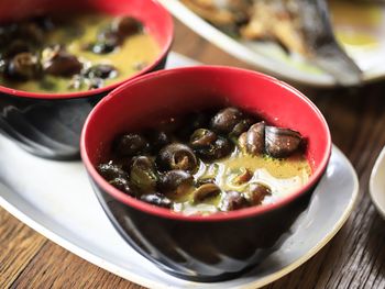
M 369 186 L 372 201 L 385 219 L 385 147 L 374 164 Z

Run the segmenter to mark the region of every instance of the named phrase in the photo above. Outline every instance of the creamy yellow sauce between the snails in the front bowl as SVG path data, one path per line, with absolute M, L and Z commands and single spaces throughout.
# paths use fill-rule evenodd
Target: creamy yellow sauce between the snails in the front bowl
M 245 169 L 253 174 L 253 177 L 242 184 L 234 182 Z M 301 155 L 294 155 L 289 158 L 277 159 L 267 156 L 251 156 L 235 149 L 233 154 L 213 163 L 200 163 L 195 179 L 215 178 L 222 194 L 224 191 L 248 191 L 253 184 L 266 185 L 271 188 L 272 194 L 266 196 L 262 204 L 274 203 L 277 200 L 290 194 L 302 187 L 309 179 L 311 168 L 308 160 Z M 170 196 L 175 201 L 174 211 L 184 214 L 210 214 L 218 211 L 221 194 L 208 198 L 201 203 L 193 202 L 193 191 L 184 196 Z

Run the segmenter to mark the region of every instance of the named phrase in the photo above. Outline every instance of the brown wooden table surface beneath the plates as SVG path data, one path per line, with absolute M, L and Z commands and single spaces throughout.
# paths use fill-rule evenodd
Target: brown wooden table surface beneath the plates
M 178 22 L 174 49 L 205 64 L 250 68 Z M 321 252 L 266 288 L 385 288 L 385 222 L 367 189 L 385 144 L 385 82 L 304 91 L 323 112 L 334 144 L 355 167 L 360 197 L 346 224 Z M 0 288 L 141 287 L 82 260 L 0 209 Z

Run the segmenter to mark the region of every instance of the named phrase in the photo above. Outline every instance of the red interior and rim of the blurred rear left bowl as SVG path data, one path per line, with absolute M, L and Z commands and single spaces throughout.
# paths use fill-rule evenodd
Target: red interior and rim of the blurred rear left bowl
M 135 75 L 125 80 L 99 89 L 69 93 L 32 93 L 0 86 L 0 92 L 18 97 L 38 99 L 47 98 L 79 98 L 110 91 L 128 79 L 155 70 L 169 51 L 173 41 L 173 19 L 170 14 L 154 0 L 2 0 L 0 1 L 0 22 L 18 21 L 42 14 L 64 13 L 103 13 L 110 15 L 132 15 L 139 19 L 146 31 L 155 38 L 161 47 L 157 58 Z

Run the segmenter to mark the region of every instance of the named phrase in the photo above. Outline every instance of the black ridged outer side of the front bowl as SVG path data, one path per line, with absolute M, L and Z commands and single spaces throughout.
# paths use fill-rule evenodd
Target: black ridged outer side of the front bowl
M 278 248 L 315 189 L 252 218 L 197 222 L 145 213 L 118 201 L 92 179 L 91 184 L 108 218 L 133 248 L 170 275 L 205 282 L 234 278 Z

